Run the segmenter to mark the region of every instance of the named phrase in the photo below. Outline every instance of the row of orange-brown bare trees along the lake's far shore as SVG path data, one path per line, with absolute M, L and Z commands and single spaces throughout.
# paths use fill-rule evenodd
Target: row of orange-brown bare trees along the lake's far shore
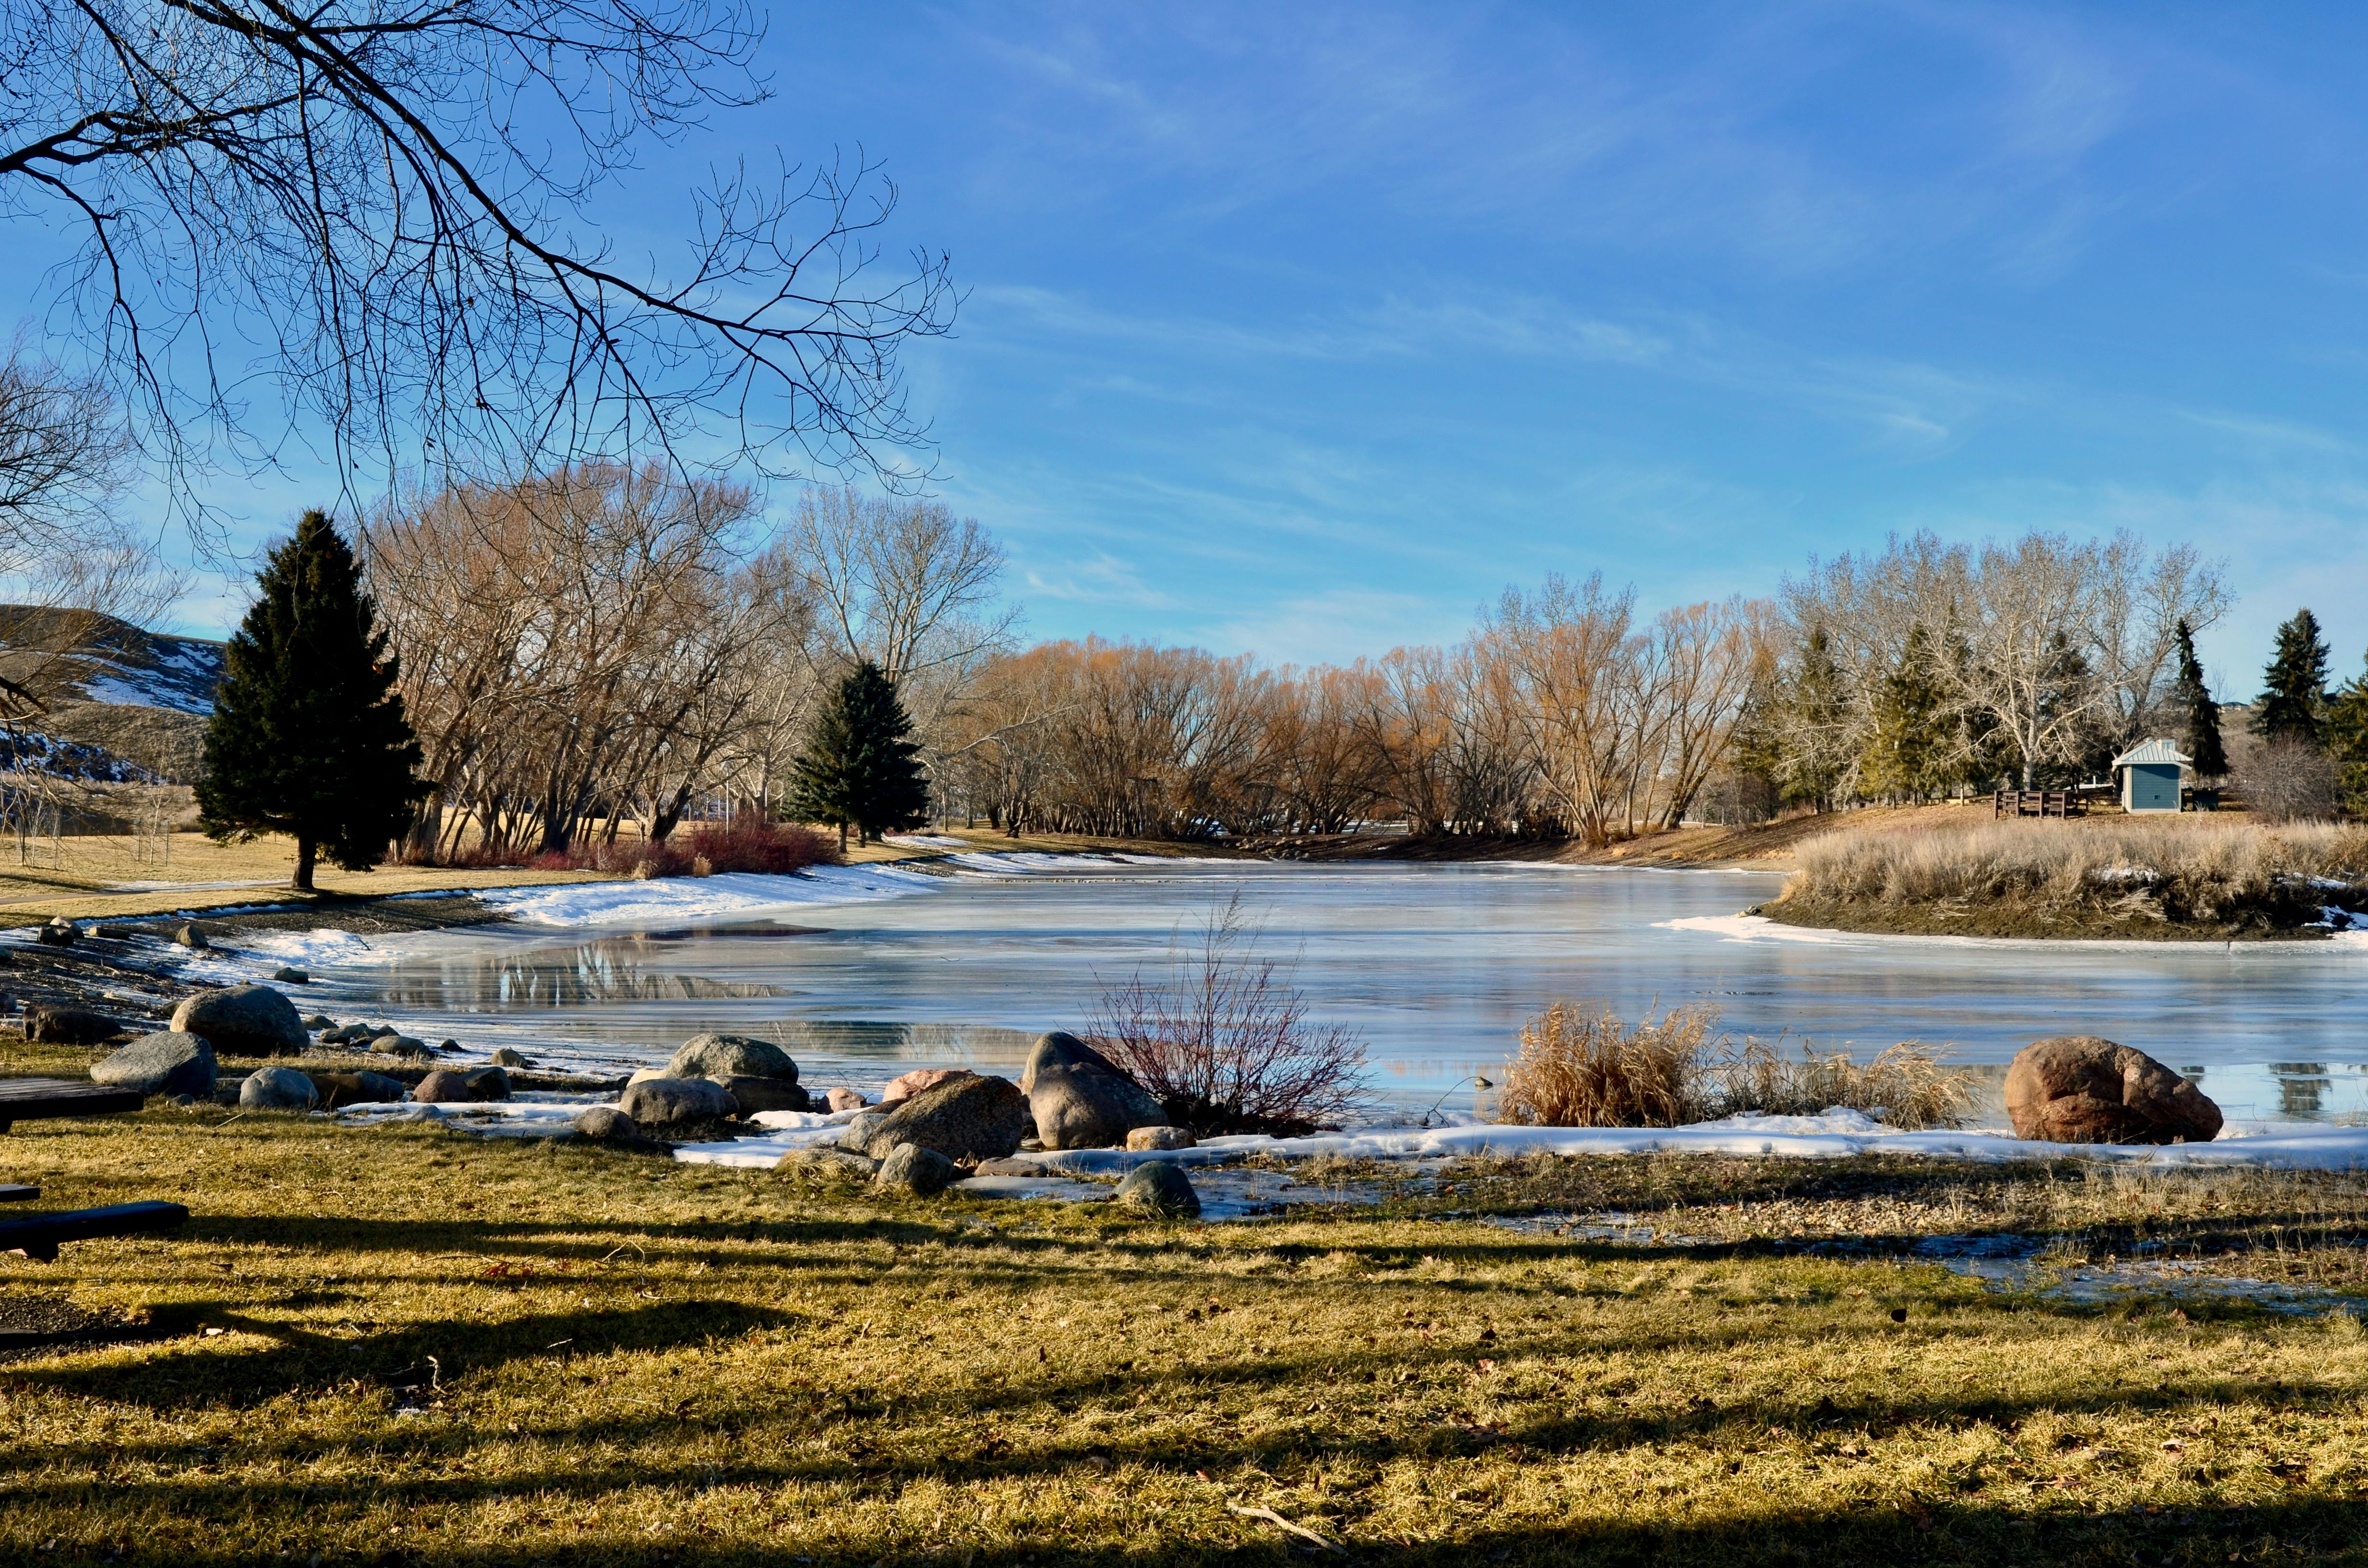
M 1579 834 L 1674 824 L 1726 758 L 1764 604 L 1636 616 L 1601 578 L 1508 592 L 1454 649 L 1262 670 L 1132 642 L 1002 656 L 933 737 L 945 810 L 1011 831 Z

